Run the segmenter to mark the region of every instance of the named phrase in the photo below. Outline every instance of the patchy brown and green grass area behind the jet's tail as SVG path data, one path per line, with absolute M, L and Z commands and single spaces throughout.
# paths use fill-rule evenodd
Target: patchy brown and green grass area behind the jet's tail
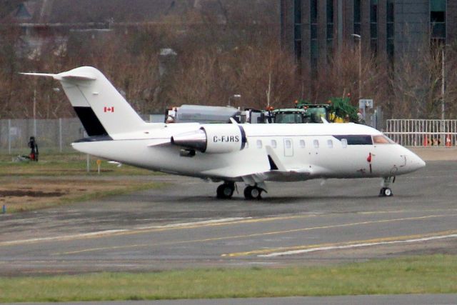
M 78 153 L 44 154 L 39 162 L 16 162 L 11 161 L 14 156 L 0 156 L 0 206 L 16 213 L 164 186 L 141 178 L 160 173 L 119 167 L 106 160 L 101 162 L 99 174 L 95 157 L 90 158 L 88 172 L 86 157 Z

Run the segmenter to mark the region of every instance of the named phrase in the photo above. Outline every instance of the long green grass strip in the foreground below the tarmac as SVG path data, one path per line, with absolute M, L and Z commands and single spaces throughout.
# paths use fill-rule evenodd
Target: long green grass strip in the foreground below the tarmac
M 283 269 L 191 269 L 0 278 L 1 302 L 456 292 L 457 256 L 451 255 Z

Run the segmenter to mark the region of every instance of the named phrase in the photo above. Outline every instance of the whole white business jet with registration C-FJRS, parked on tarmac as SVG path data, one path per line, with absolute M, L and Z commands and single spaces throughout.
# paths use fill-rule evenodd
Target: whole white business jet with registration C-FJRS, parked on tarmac
M 90 66 L 51 76 L 61 82 L 88 137 L 74 149 L 170 174 L 222 181 L 229 199 L 244 182 L 246 199 L 260 199 L 265 181 L 395 177 L 425 166 L 413 152 L 361 124 L 146 123 L 114 86 Z

